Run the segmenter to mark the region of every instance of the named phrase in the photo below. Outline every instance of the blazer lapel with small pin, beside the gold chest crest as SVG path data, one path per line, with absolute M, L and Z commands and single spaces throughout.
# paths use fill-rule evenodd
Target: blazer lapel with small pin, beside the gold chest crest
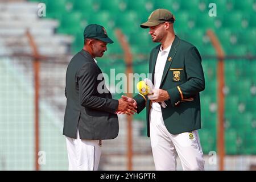
M 180 39 L 175 35 L 174 42 L 172 43 L 171 50 L 170 50 L 169 55 L 168 55 L 167 60 L 166 60 L 166 65 L 164 66 L 164 71 L 163 71 L 163 76 L 162 76 L 160 88 L 163 84 L 164 77 L 166 77 L 166 75 L 168 73 L 168 70 L 169 70 L 169 68 L 172 64 L 172 61 L 174 61 L 174 56 L 175 56 L 176 51 L 177 51 L 176 47 L 179 45 L 179 43 L 180 43 Z

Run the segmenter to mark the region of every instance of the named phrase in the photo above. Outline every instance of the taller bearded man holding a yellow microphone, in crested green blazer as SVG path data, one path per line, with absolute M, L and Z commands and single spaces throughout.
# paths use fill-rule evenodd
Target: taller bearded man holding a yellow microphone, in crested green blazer
M 150 53 L 155 90 L 147 97 L 123 98 L 137 104 L 137 113 L 147 109 L 147 135 L 156 170 L 176 170 L 177 155 L 184 170 L 204 170 L 197 132 L 201 128 L 199 92 L 205 88 L 201 56 L 195 46 L 175 35 L 174 22 L 170 11 L 157 9 L 141 24 L 149 28 L 152 41 L 160 43 Z M 166 107 L 159 104 L 163 101 Z

